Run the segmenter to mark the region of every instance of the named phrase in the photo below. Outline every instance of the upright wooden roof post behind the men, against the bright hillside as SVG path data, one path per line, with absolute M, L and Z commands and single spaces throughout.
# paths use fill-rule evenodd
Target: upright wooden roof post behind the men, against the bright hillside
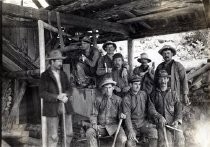
M 133 70 L 133 39 L 128 38 L 128 64 L 130 73 Z

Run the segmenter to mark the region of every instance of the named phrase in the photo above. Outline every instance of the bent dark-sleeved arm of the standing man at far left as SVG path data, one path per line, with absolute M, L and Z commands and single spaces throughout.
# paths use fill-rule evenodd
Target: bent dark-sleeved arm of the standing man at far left
M 43 73 L 41 75 L 40 86 L 39 86 L 40 97 L 48 102 L 57 102 L 58 94 L 48 92 L 48 84 L 49 84 L 48 78 L 45 75 L 45 73 Z

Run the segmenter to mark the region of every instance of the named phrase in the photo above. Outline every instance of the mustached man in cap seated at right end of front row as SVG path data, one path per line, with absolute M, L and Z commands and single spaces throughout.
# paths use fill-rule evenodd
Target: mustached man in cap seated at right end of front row
M 177 92 L 168 88 L 170 76 L 166 70 L 159 70 L 157 79 L 158 87 L 151 93 L 151 101 L 160 115 L 155 119 L 158 125 L 159 146 L 165 147 L 163 129 L 166 124 L 174 128 L 181 128 L 182 104 Z M 170 147 L 184 147 L 184 135 L 182 132 L 170 128 L 166 128 L 166 132 Z

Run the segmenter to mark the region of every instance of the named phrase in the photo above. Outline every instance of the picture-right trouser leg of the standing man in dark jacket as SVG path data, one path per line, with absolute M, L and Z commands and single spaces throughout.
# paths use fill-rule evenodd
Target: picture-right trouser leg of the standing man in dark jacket
M 70 147 L 72 137 L 73 137 L 72 115 L 66 115 L 66 144 L 67 144 L 67 147 Z

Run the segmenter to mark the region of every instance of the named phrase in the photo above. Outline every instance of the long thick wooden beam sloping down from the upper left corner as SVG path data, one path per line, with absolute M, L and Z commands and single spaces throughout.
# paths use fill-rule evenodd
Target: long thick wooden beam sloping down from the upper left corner
M 22 17 L 34 20 L 43 20 L 48 22 L 48 10 L 37 10 L 34 8 L 21 7 L 13 4 L 5 4 L 2 6 L 2 14 L 10 15 L 15 17 Z M 79 17 L 71 14 L 60 13 L 61 24 L 70 25 L 76 27 L 98 29 L 106 32 L 114 32 L 118 34 L 128 35 L 129 32 L 127 28 L 121 24 L 99 21 L 95 19 L 88 19 L 84 17 Z M 56 12 L 51 12 L 51 22 L 56 23 Z

